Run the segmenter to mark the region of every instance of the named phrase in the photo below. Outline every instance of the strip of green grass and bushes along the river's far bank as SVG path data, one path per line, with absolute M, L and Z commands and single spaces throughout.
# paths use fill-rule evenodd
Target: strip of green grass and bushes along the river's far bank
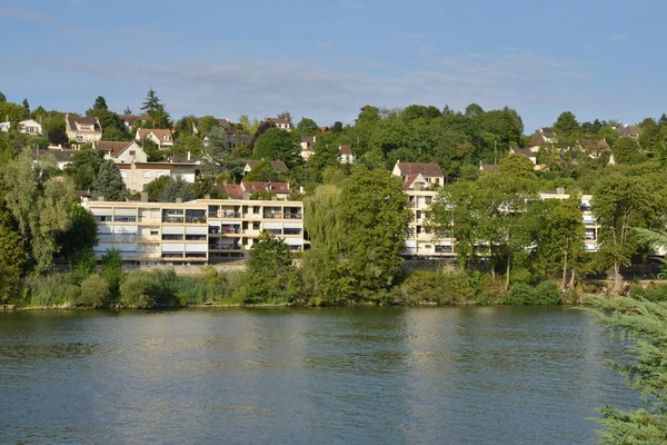
M 590 289 L 563 293 L 556 281 L 537 285 L 516 284 L 504 290 L 490 275 L 419 270 L 402 276 L 399 281 L 371 300 L 332 304 L 303 290 L 258 300 L 249 295 L 251 276 L 222 273 L 207 268 L 198 276 L 178 276 L 170 269 L 81 275 L 77 271 L 29 276 L 22 291 L 6 301 L 17 308 L 178 308 L 235 306 L 355 306 L 355 305 L 573 305 L 583 303 Z M 635 285 L 634 298 L 667 300 L 667 285 Z

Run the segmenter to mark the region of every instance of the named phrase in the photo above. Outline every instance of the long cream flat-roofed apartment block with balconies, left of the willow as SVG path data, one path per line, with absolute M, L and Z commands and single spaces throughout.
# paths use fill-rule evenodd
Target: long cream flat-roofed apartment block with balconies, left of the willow
M 118 249 L 127 265 L 203 265 L 247 258 L 262 231 L 303 249 L 300 201 L 198 199 L 188 202 L 110 202 L 83 206 L 98 224 L 99 258 Z

